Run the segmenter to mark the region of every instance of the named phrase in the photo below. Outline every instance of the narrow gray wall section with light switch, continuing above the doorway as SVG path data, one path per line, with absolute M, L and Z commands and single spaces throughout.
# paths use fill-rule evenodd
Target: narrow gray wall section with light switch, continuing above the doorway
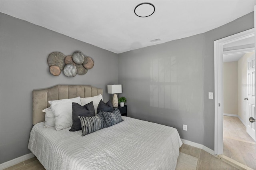
M 214 149 L 214 100 L 208 99 L 208 92 L 214 91 L 213 42 L 251 28 L 254 28 L 254 12 L 204 34 L 204 140 L 202 144 L 208 148 Z

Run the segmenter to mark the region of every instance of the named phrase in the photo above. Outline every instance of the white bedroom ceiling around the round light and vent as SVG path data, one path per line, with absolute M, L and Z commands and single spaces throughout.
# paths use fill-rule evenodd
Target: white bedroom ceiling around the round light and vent
M 154 4 L 152 16 L 134 14 L 142 2 Z M 1 0 L 0 12 L 122 53 L 207 32 L 252 12 L 254 5 L 256 0 Z

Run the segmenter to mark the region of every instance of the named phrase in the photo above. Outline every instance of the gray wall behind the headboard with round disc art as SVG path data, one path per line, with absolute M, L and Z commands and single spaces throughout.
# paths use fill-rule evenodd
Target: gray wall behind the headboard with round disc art
M 0 163 L 30 153 L 32 90 L 57 84 L 93 85 L 104 90 L 118 83 L 118 55 L 88 43 L 0 13 Z M 53 51 L 65 55 L 80 50 L 92 57 L 94 67 L 85 75 L 55 77 L 48 71 Z

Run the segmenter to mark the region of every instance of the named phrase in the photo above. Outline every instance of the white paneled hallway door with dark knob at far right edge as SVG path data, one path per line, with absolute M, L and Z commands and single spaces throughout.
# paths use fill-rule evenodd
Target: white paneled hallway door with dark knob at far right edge
M 255 122 L 249 121 L 250 117 L 255 118 L 255 56 L 247 59 L 247 120 L 246 132 L 255 140 L 256 130 Z

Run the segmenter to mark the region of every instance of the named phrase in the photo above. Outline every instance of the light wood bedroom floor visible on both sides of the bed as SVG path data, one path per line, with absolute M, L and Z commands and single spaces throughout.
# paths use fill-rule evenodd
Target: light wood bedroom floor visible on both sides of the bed
M 183 144 L 180 152 L 198 158 L 197 170 L 238 170 L 202 149 Z M 45 170 L 36 157 L 20 162 L 4 170 Z

